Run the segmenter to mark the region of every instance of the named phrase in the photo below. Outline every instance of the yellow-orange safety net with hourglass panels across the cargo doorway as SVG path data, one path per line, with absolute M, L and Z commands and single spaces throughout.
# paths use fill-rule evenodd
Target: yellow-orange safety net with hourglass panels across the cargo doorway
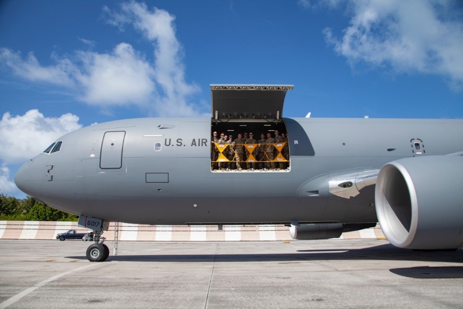
M 214 143 L 215 147 L 219 150 L 219 156 L 216 161 L 213 162 L 288 162 L 288 160 L 282 155 L 282 150 L 285 144 L 288 142 L 278 142 L 273 144 L 219 144 Z M 244 150 L 237 151 L 238 147 L 242 147 Z M 277 150 L 277 155 L 273 159 L 269 158 L 271 153 L 273 156 L 273 150 Z M 233 159 L 229 160 L 226 156 L 227 152 L 232 151 Z M 246 160 L 242 160 L 239 154 L 246 155 Z M 259 155 L 259 159 L 256 159 L 256 155 Z

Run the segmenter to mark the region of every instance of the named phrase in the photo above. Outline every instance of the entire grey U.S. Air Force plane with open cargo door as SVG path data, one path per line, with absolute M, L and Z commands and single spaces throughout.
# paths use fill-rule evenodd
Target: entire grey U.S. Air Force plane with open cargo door
M 78 129 L 25 163 L 16 185 L 80 215 L 94 234 L 90 261 L 108 257 L 102 233 L 110 221 L 285 224 L 296 239 L 335 238 L 379 221 L 401 248 L 463 246 L 463 120 L 282 118 L 292 89 L 213 84 L 211 118 Z M 213 132 L 257 138 L 216 142 Z M 257 142 L 267 133 L 274 140 Z

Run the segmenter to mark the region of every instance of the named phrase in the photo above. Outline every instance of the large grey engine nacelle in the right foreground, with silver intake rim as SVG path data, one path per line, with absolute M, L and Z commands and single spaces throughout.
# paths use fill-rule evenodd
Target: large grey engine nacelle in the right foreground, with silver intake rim
M 397 247 L 462 247 L 463 156 L 389 162 L 378 174 L 375 207 L 382 232 Z

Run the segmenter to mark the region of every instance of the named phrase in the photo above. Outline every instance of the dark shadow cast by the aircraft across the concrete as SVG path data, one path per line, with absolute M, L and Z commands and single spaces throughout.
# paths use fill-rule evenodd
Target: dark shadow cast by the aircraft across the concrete
M 66 257 L 86 259 L 84 256 Z M 301 263 L 318 260 L 391 260 L 462 263 L 463 250 L 457 251 L 413 251 L 401 249 L 390 244 L 369 248 L 349 249 L 310 249 L 293 253 L 250 253 L 250 254 L 150 254 L 116 255 L 107 261 L 130 262 L 257 262 L 280 261 L 280 264 Z M 394 274 L 412 278 L 463 278 L 463 266 L 409 267 L 391 269 Z

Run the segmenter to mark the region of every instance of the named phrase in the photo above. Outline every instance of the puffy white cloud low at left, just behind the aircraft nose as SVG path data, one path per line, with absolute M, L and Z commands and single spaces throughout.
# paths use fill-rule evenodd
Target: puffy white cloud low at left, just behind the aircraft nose
M 44 117 L 37 109 L 14 117 L 6 112 L 0 120 L 2 164 L 24 163 L 33 158 L 60 136 L 81 128 L 78 121 L 78 116 L 69 113 L 57 118 Z

